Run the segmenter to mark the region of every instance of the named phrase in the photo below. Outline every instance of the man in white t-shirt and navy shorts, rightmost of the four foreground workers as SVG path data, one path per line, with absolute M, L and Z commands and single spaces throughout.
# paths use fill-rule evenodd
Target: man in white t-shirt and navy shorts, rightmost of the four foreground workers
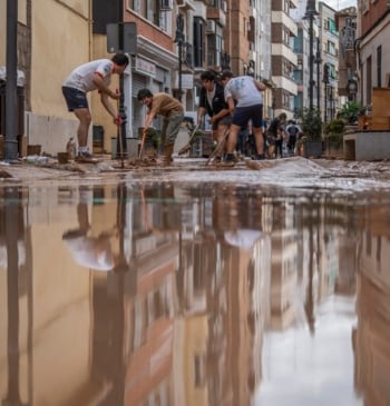
M 233 77 L 231 71 L 224 71 L 221 76 L 224 86 L 225 100 L 233 115 L 230 136 L 226 146 L 226 158 L 223 165 L 234 166 L 233 151 L 237 143 L 237 136 L 242 128 L 252 121 L 252 129 L 256 142 L 255 159 L 264 159 L 264 139 L 262 131 L 263 97 L 265 85 L 251 76 Z

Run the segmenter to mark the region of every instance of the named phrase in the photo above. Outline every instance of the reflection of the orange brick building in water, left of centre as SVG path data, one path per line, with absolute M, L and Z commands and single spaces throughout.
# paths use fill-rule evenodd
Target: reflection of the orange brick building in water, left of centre
M 127 268 L 94 280 L 94 370 L 113 384 L 103 405 L 173 404 L 179 210 L 164 186 L 118 194 Z

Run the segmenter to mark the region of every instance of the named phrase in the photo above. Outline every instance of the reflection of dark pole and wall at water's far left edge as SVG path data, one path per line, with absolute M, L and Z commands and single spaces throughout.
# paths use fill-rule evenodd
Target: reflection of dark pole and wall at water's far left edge
M 30 358 L 21 345 L 30 348 L 31 328 L 21 330 L 20 318 L 31 325 L 30 234 L 26 225 L 25 198 L 17 187 L 1 188 L 0 206 L 0 404 L 22 405 L 30 382 Z M 27 311 L 26 311 L 27 310 Z M 26 324 L 25 324 L 26 326 Z M 30 395 L 30 394 L 29 394 Z

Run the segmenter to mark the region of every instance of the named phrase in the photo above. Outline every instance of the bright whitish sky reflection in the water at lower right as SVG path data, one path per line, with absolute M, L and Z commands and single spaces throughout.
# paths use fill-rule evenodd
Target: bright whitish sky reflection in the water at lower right
M 319 308 L 314 337 L 306 326 L 267 333 L 254 405 L 361 406 L 351 374 L 354 324 L 354 301 L 333 297 Z

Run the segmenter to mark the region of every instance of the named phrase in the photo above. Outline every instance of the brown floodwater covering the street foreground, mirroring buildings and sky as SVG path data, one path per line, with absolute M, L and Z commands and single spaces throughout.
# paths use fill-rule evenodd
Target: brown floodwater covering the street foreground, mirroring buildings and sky
M 0 187 L 0 403 L 390 405 L 390 187 L 292 160 Z

